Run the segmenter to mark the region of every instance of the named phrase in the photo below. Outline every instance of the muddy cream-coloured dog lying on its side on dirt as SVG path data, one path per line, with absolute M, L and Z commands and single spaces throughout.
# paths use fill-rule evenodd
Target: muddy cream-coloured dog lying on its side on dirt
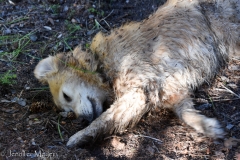
M 239 22 L 239 0 L 168 0 L 142 22 L 98 33 L 90 51 L 76 47 L 43 59 L 34 73 L 49 84 L 55 104 L 92 121 L 67 146 L 122 132 L 156 107 L 172 109 L 197 132 L 222 138 L 219 122 L 199 114 L 190 96 L 240 55 Z

